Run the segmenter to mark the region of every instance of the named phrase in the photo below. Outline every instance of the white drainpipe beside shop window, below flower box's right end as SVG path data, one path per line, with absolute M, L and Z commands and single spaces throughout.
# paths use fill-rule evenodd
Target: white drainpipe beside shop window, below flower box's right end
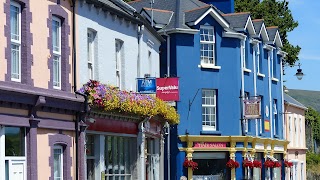
M 140 174 L 138 173 L 138 178 L 139 180 L 145 180 L 146 179 L 146 163 L 145 163 L 145 140 L 146 140 L 146 134 L 145 134 L 145 129 L 143 127 L 144 123 L 149 121 L 151 119 L 150 117 L 145 118 L 143 121 L 141 121 L 138 125 L 139 128 L 139 135 L 138 138 L 141 140 L 140 144 L 138 143 L 138 150 L 139 150 L 139 162 L 140 162 L 140 169 L 138 170 Z M 138 139 L 138 140 L 139 140 Z

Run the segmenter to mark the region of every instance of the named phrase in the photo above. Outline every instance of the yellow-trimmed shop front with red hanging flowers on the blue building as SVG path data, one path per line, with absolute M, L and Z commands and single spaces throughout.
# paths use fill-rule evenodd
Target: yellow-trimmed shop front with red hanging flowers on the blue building
M 183 166 L 189 180 L 280 180 L 284 177 L 287 141 L 249 136 L 185 135 L 179 138 L 186 144 L 180 152 L 185 152 Z

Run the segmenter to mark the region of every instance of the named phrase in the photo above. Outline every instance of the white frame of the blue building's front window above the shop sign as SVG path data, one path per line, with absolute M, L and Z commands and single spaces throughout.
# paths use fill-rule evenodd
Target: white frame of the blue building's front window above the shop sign
M 210 92 L 213 92 L 213 97 L 203 97 L 202 94 L 204 91 L 210 91 Z M 204 131 L 216 131 L 217 130 L 217 91 L 215 89 L 202 89 L 202 93 L 201 93 L 201 100 L 203 98 L 213 98 L 213 104 L 202 104 L 201 103 L 201 109 L 202 108 L 213 108 L 214 112 L 213 114 L 203 114 L 201 113 L 202 115 L 202 130 Z M 204 119 L 203 119 L 203 116 L 204 115 L 214 115 L 214 120 L 213 120 L 213 123 L 214 123 L 214 126 L 210 126 L 210 125 L 203 125 L 204 123 Z M 209 123 L 212 123 L 211 121 L 205 121 L 206 122 L 209 122 Z

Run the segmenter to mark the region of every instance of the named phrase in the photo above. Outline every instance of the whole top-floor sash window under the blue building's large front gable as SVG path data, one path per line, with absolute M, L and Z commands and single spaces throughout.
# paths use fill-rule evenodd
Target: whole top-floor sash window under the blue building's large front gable
M 201 64 L 216 65 L 215 34 L 212 26 L 200 27 L 200 46 Z

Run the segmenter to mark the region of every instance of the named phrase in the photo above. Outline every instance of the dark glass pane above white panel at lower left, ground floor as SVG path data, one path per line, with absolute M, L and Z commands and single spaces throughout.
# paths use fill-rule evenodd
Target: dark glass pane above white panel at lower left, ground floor
M 5 127 L 6 156 L 25 155 L 25 130 L 20 127 Z

